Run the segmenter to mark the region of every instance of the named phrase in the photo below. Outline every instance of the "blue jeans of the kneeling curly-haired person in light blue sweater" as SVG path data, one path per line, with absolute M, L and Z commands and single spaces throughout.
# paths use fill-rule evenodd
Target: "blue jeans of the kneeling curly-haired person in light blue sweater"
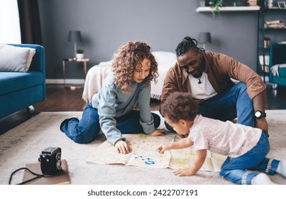
M 155 128 L 157 128 L 160 125 L 160 116 L 155 113 L 152 113 L 152 115 Z M 116 118 L 116 128 L 121 131 L 121 134 L 143 133 L 143 128 L 139 120 L 140 112 L 133 110 L 123 117 Z M 77 143 L 89 143 L 93 141 L 100 131 L 97 109 L 92 107 L 92 102 L 90 102 L 82 113 L 82 119 L 79 120 L 74 117 L 65 119 L 60 124 L 60 130 Z

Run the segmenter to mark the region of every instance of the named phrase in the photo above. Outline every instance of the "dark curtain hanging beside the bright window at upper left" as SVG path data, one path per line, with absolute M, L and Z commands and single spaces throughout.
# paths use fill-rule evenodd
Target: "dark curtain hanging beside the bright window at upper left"
M 18 0 L 22 43 L 42 45 L 38 0 Z

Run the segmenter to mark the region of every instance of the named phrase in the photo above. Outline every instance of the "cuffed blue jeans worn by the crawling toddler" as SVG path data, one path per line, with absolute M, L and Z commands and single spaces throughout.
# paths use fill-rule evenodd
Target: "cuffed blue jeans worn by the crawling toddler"
M 233 183 L 250 185 L 251 179 L 261 171 L 270 175 L 275 175 L 280 161 L 266 158 L 270 150 L 268 137 L 263 132 L 261 137 L 251 151 L 237 158 L 226 158 L 221 166 L 220 176 Z

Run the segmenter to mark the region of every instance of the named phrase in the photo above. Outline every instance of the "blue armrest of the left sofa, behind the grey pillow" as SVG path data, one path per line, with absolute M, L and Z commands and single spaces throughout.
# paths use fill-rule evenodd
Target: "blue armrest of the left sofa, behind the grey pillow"
M 33 60 L 31 66 L 28 71 L 39 71 L 45 73 L 45 49 L 42 45 L 38 44 L 12 44 L 18 47 L 26 47 L 26 48 L 35 48 L 35 55 L 33 56 Z

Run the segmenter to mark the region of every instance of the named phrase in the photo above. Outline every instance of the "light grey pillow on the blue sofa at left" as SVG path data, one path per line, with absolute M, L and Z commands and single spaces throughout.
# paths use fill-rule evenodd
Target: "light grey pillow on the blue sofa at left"
M 0 71 L 27 72 L 35 55 L 35 48 L 0 43 Z

